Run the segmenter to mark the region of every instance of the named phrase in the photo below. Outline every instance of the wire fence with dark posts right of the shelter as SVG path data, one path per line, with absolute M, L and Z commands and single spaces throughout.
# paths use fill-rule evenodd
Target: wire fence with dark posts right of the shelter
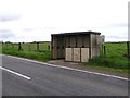
M 130 41 L 105 42 L 101 45 L 101 56 L 106 57 L 128 57 L 130 58 Z

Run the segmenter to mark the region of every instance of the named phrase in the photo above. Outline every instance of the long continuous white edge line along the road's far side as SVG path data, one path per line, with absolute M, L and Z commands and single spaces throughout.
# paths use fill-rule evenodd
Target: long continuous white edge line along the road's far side
M 6 56 L 6 54 L 4 54 L 4 56 Z M 90 73 L 90 74 L 95 74 L 95 75 L 102 75 L 102 76 L 107 76 L 107 77 L 114 77 L 114 78 L 118 78 L 118 79 L 129 81 L 129 78 L 120 77 L 120 76 L 116 76 L 116 75 L 103 74 L 103 73 L 98 73 L 98 72 L 90 72 L 90 71 L 73 69 L 73 68 L 62 66 L 62 65 L 54 65 L 54 64 L 49 64 L 49 63 L 44 63 L 44 62 L 40 62 L 40 61 L 35 61 L 35 60 L 24 59 L 24 58 L 18 58 L 18 57 L 13 57 L 13 56 L 8 56 L 8 57 L 20 59 L 20 60 L 25 60 L 25 61 L 29 61 L 29 62 L 35 62 L 35 63 L 39 63 L 39 64 L 46 64 L 46 65 L 49 65 L 49 66 L 62 68 L 62 69 L 72 70 L 72 71 L 78 71 L 78 72 L 83 72 L 83 73 Z

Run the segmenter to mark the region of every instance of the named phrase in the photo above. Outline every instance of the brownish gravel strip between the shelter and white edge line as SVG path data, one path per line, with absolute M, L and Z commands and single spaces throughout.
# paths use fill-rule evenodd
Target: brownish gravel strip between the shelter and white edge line
M 128 73 L 116 72 L 113 69 L 104 70 L 104 69 L 101 69 L 98 66 L 87 65 L 86 63 L 66 62 L 64 60 L 50 60 L 47 63 L 62 65 L 62 66 L 68 66 L 68 68 L 73 68 L 73 69 L 84 70 L 84 71 L 98 72 L 98 73 L 103 73 L 103 74 L 117 75 L 117 76 L 128 78 Z

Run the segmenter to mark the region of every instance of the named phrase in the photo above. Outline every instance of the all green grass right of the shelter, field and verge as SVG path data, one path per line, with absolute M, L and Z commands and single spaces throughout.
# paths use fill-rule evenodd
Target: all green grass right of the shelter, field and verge
M 106 54 L 90 59 L 87 65 L 98 66 L 100 69 L 109 69 L 117 72 L 129 72 L 130 62 L 127 54 L 127 44 L 105 44 Z

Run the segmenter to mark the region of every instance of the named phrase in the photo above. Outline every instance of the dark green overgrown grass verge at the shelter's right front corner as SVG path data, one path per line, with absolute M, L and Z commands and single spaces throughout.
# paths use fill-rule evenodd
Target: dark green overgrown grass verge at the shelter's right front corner
M 130 62 L 127 58 L 99 57 L 90 59 L 87 65 L 113 72 L 130 73 L 129 70 Z

